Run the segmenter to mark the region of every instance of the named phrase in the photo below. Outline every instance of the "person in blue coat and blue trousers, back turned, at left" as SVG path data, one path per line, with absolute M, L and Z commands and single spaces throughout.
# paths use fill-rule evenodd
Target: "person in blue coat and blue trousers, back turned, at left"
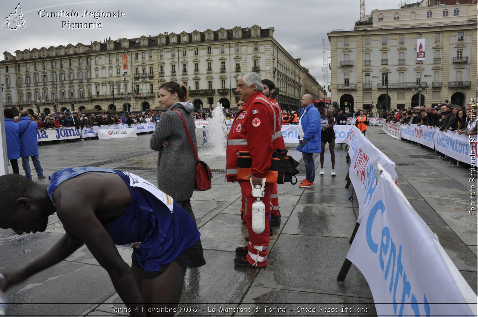
M 31 124 L 32 120 L 26 110 L 20 111 L 20 116 L 20 121 L 18 121 L 17 124 L 20 128 L 20 156 L 22 157 L 22 166 L 25 171 L 25 176 L 27 179 L 33 180 L 30 171 L 30 161 L 28 160 L 28 157 L 31 157 L 38 179 L 44 179 L 45 176 L 43 175 L 42 165 L 38 159 L 38 125 L 34 121 L 33 124 Z

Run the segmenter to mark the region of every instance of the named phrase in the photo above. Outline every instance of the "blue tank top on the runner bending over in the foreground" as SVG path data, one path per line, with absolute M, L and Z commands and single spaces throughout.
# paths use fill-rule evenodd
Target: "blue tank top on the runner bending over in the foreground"
M 119 170 L 96 167 L 61 169 L 50 177 L 48 195 L 53 201 L 53 192 L 65 180 L 87 172 L 116 173 L 128 185 L 131 201 L 123 214 L 104 225 L 116 245 L 131 244 L 133 252 L 145 271 L 158 271 L 161 265 L 173 261 L 201 235 L 191 216 L 178 204 L 172 211 L 150 191 L 131 186 L 130 174 Z M 142 180 L 133 175 L 135 180 Z M 54 201 L 53 201 L 54 203 Z

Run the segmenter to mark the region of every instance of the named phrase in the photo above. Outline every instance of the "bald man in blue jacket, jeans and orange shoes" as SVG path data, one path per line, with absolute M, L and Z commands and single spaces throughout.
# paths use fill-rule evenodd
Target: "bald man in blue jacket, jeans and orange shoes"
M 314 153 L 321 152 L 320 114 L 312 102 L 312 96 L 306 94 L 300 100 L 302 109 L 299 114 L 299 146 L 305 164 L 305 179 L 300 187 L 312 187 L 315 181 Z

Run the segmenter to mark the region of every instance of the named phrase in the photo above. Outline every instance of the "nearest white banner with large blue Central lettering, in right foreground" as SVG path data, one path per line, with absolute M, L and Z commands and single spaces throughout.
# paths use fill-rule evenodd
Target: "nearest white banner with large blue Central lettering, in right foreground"
M 347 258 L 367 279 L 378 316 L 476 316 L 476 294 L 388 173 L 360 214 Z

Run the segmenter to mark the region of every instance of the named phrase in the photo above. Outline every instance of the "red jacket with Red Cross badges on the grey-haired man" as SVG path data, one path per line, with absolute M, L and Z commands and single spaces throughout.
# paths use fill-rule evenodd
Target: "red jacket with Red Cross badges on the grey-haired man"
M 277 120 L 269 99 L 258 91 L 252 94 L 240 110 L 228 137 L 226 149 L 226 179 L 237 181 L 239 151 L 249 151 L 252 159 L 250 172 L 264 177 L 271 167 L 274 120 Z M 279 128 L 280 129 L 280 128 Z

